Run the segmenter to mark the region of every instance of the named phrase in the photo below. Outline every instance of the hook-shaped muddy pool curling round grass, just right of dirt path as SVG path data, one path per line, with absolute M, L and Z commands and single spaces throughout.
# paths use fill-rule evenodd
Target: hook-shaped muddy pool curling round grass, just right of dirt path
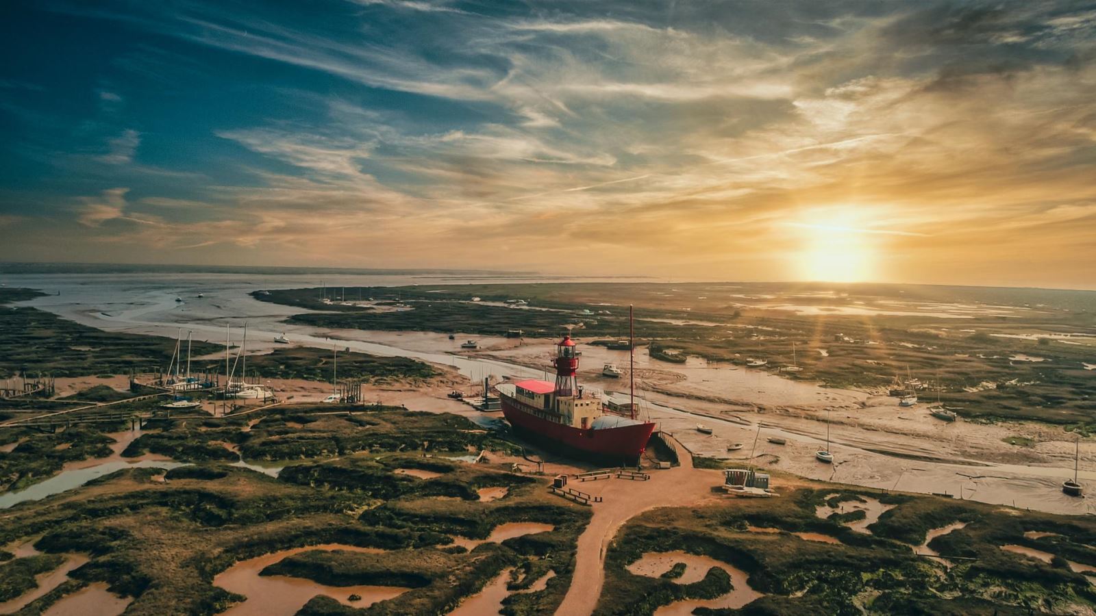
M 751 601 L 762 596 L 761 593 L 750 588 L 746 581 L 746 573 L 741 569 L 727 562 L 716 560 L 707 556 L 688 554 L 686 551 L 647 552 L 639 560 L 628 566 L 628 571 L 636 575 L 647 575 L 659 578 L 677 562 L 684 562 L 685 573 L 681 578 L 673 580 L 678 584 L 692 584 L 699 582 L 708 574 L 708 570 L 718 567 L 731 575 L 731 584 L 734 590 L 723 596 L 710 600 L 686 600 L 664 605 L 654 612 L 655 616 L 677 616 L 692 614 L 697 607 L 709 608 L 739 608 Z

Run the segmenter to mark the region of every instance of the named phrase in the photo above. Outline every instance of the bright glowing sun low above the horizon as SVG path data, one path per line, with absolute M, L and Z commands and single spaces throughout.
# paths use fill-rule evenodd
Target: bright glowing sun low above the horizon
M 796 269 L 802 280 L 858 283 L 872 278 L 878 254 L 872 235 L 855 212 L 811 213 L 792 226 L 799 231 Z

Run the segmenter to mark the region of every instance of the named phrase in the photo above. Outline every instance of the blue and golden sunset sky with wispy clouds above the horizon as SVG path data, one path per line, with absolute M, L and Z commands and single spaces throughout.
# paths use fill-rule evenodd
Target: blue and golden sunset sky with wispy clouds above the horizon
M 1096 288 L 1096 3 L 8 1 L 0 260 Z

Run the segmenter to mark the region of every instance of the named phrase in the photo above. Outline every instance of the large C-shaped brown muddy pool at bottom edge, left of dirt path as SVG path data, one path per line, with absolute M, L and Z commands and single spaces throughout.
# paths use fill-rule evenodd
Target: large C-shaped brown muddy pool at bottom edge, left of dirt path
M 235 616 L 289 616 L 296 614 L 306 603 L 318 594 L 330 596 L 343 605 L 368 607 L 379 601 L 399 596 L 411 589 L 401 586 L 328 586 L 311 580 L 289 578 L 287 575 L 260 575 L 259 573 L 285 558 L 295 554 L 312 550 L 344 550 L 365 554 L 384 554 L 378 548 L 361 548 L 340 544 L 323 544 L 292 548 L 263 555 L 248 560 L 241 560 L 218 573 L 213 583 L 227 591 L 242 594 L 247 598 L 222 614 Z M 352 594 L 362 595 L 361 601 L 351 602 Z

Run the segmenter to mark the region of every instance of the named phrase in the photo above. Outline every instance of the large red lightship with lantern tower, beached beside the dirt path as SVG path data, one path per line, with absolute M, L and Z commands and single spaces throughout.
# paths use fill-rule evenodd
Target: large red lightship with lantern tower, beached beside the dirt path
M 520 435 L 548 448 L 609 464 L 635 464 L 654 424 L 605 412 L 579 387 L 579 353 L 567 335 L 556 343 L 556 383 L 528 379 L 496 387 L 502 413 Z

